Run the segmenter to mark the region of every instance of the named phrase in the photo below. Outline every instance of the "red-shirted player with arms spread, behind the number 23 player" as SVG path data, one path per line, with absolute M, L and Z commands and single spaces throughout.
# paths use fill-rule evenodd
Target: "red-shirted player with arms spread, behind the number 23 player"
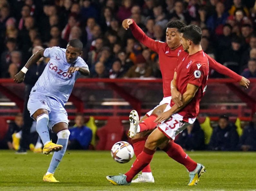
M 182 104 L 180 102 L 181 94 L 180 92 L 172 92 L 170 89 L 171 80 L 173 79 L 174 71 L 177 66 L 177 58 L 182 58 L 187 54 L 183 47 L 181 46 L 181 36 L 180 32 L 178 31 L 182 27 L 186 25 L 180 21 L 170 21 L 167 24 L 166 29 L 166 43 L 155 41 L 147 35 L 137 26 L 137 24 L 132 19 L 126 19 L 123 21 L 123 27 L 125 29 L 130 28 L 134 37 L 144 44 L 145 46 L 149 47 L 157 54 L 159 54 L 159 65 L 160 70 L 162 73 L 163 78 L 163 93 L 164 98 L 163 100 L 151 111 L 147 112 L 147 114 L 140 120 L 139 126 L 138 124 L 138 114 L 135 110 L 130 113 L 130 131 L 129 137 L 132 137 L 132 143 L 134 146 L 134 153 L 137 156 L 140 154 L 144 148 L 147 135 L 149 135 L 152 130 L 156 127 L 156 123 L 154 120 L 157 116 L 162 113 L 165 108 L 166 104 L 170 102 L 171 98 L 176 104 Z M 205 54 L 206 55 L 206 54 Z M 213 70 L 222 73 L 235 79 L 240 85 L 248 87 L 250 81 L 235 72 L 231 71 L 230 69 L 226 68 L 222 64 L 216 62 L 211 57 L 206 55 L 209 60 L 209 67 Z M 172 95 L 172 96 L 171 96 Z M 135 128 L 139 128 L 137 133 L 135 132 Z M 145 131 L 146 130 L 146 131 Z M 143 131 L 143 132 L 141 132 Z M 137 133 L 137 134 L 136 134 Z M 135 135 L 136 134 L 136 135 Z M 175 150 L 175 149 L 174 149 Z M 176 150 L 182 150 L 179 145 L 176 145 Z M 175 152 L 176 152 L 175 150 Z M 178 159 L 174 158 L 177 162 Z M 133 180 L 132 182 L 154 182 L 154 177 L 152 176 L 150 165 L 146 166 L 142 170 L 142 175 L 139 176 L 137 179 Z

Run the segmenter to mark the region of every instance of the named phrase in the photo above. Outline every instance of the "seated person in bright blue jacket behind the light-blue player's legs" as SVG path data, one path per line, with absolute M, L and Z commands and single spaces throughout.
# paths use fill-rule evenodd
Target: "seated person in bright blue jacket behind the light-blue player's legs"
M 77 114 L 75 117 L 75 125 L 69 129 L 70 136 L 68 141 L 68 149 L 82 149 L 89 148 L 92 139 L 92 130 L 84 124 L 84 118 L 82 114 Z

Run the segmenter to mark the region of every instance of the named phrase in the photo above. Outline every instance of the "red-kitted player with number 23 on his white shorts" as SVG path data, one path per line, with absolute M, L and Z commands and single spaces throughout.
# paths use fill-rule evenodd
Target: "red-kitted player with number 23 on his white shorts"
M 163 113 L 155 120 L 159 123 L 147 138 L 143 151 L 137 156 L 131 169 L 119 176 L 107 176 L 107 180 L 114 185 L 130 185 L 131 180 L 147 166 L 153 158 L 156 148 L 166 144 L 163 149 L 171 158 L 183 158 L 180 163 L 189 171 L 189 186 L 196 185 L 205 167 L 194 162 L 189 156 L 181 157 L 173 152 L 175 136 L 182 132 L 187 125 L 193 124 L 199 113 L 199 102 L 204 95 L 209 73 L 209 61 L 201 47 L 202 32 L 195 25 L 181 29 L 182 46 L 188 54 L 180 59 L 171 82 L 171 90 L 181 93 L 182 104 L 171 101 Z M 183 153 L 181 153 L 183 154 Z M 185 153 L 184 153 L 185 154 Z

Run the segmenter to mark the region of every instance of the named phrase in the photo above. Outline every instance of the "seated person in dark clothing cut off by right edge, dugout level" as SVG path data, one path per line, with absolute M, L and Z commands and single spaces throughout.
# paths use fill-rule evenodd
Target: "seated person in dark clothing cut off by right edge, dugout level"
M 243 129 L 239 149 L 242 151 L 256 151 L 256 113 L 252 116 L 250 124 Z

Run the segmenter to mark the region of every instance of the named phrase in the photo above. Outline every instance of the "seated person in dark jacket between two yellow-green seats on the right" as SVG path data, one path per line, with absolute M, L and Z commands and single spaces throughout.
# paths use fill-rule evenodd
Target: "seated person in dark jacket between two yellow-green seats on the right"
M 213 129 L 209 149 L 213 151 L 234 151 L 239 141 L 236 127 L 225 115 L 220 116 L 218 126 Z

